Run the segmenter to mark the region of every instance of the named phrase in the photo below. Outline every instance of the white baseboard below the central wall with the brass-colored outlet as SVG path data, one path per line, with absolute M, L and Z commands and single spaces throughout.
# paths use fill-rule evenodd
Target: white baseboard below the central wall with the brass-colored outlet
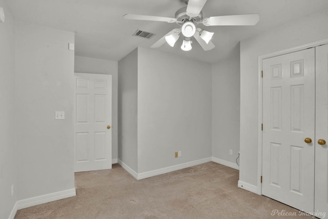
M 211 161 L 211 158 L 204 158 L 204 159 L 191 161 L 191 162 L 187 162 L 187 163 L 182 163 L 182 164 L 178 164 L 178 165 L 174 165 L 174 166 L 169 166 L 169 167 L 165 167 L 165 168 L 161 168 L 161 169 L 151 170 L 151 171 L 148 171 L 148 172 L 141 172 L 141 173 L 138 173 L 137 180 L 142 180 L 142 179 L 146 179 L 146 178 L 149 178 L 149 177 L 154 177 L 154 176 L 157 176 L 157 175 L 160 175 L 160 174 L 163 174 L 163 173 L 168 173 L 168 172 L 172 172 L 172 171 L 179 170 L 179 169 L 185 169 L 187 167 L 207 163 L 207 162 L 210 162 L 210 161 Z

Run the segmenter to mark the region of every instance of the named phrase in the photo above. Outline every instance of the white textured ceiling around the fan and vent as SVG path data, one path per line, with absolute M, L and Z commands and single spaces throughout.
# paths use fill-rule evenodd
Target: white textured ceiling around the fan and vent
M 174 17 L 185 3 L 182 0 L 7 0 L 17 20 L 75 32 L 75 55 L 120 60 L 136 47 L 150 48 L 177 24 L 159 21 L 126 20 L 126 13 Z M 167 43 L 157 50 L 193 59 L 216 62 L 242 39 L 288 23 L 291 20 L 323 10 L 327 0 L 208 0 L 203 17 L 259 13 L 256 26 L 204 27 L 215 32 L 216 48 L 203 51 L 194 41 L 193 49 L 181 51 L 182 39 L 171 48 Z M 133 37 L 137 30 L 156 35 L 151 39 Z

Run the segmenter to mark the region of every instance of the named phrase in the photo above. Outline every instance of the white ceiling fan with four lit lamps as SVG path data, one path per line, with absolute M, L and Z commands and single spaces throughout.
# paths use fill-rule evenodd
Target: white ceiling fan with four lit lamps
M 207 0 L 185 0 L 187 7 L 183 7 L 177 10 L 175 12 L 175 18 L 139 14 L 125 14 L 123 17 L 132 20 L 153 20 L 178 24 L 181 26 L 180 28 L 171 30 L 169 33 L 155 42 L 151 48 L 158 48 L 165 42 L 167 42 L 171 47 L 174 47 L 175 42 L 180 37 L 180 33 L 182 33 L 184 39 L 181 49 L 183 51 L 190 51 L 192 49 L 192 37 L 196 39 L 196 41 L 205 51 L 212 50 L 215 47 L 211 41 L 214 33 L 208 32 L 201 28 L 196 28 L 198 24 L 203 24 L 204 26 L 251 26 L 256 25 L 259 21 L 258 14 L 228 15 L 203 18 L 201 10 L 206 2 Z

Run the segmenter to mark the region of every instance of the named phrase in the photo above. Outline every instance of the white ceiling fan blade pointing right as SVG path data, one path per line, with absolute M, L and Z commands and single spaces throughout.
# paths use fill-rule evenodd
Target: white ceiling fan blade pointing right
M 260 20 L 259 14 L 241 14 L 207 17 L 203 19 L 205 26 L 250 26 L 256 25 Z

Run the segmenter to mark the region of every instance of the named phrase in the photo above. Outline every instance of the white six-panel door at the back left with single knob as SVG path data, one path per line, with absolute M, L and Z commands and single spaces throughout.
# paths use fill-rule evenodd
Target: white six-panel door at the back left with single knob
M 112 76 L 75 73 L 75 172 L 112 168 Z

